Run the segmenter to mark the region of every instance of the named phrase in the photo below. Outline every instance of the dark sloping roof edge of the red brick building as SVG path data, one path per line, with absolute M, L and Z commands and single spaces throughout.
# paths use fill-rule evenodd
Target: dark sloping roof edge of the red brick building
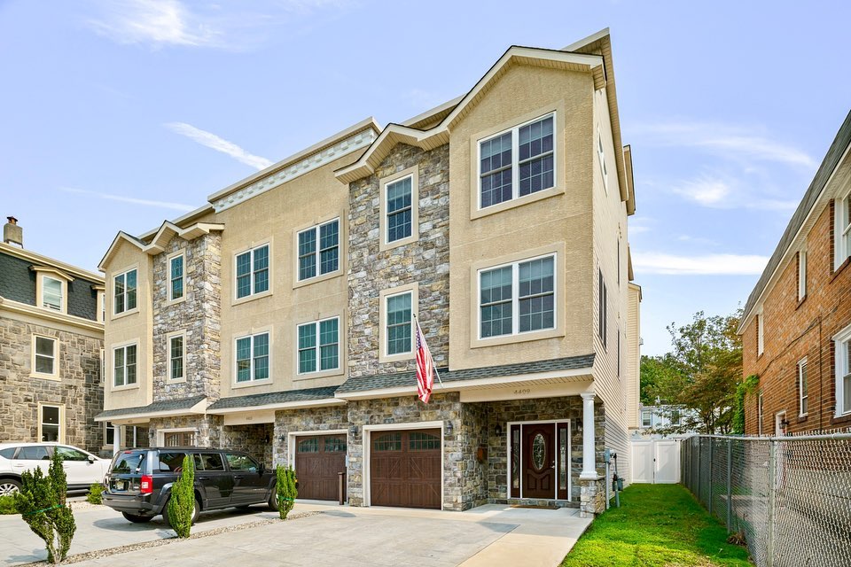
M 789 249 L 794 244 L 796 237 L 798 237 L 800 229 L 804 226 L 804 223 L 807 221 L 810 214 L 814 212 L 814 207 L 823 196 L 824 188 L 831 180 L 831 177 L 837 167 L 839 167 L 839 164 L 842 163 L 843 157 L 847 156 L 849 149 L 851 149 L 851 112 L 847 114 L 845 121 L 842 122 L 842 126 L 839 127 L 839 132 L 837 132 L 830 149 L 828 149 L 827 154 L 824 156 L 822 165 L 818 167 L 816 176 L 813 178 L 812 183 L 809 184 L 807 192 L 804 193 L 804 197 L 800 199 L 800 204 L 798 205 L 798 208 L 795 209 L 795 213 L 792 214 L 792 219 L 786 226 L 783 236 L 780 237 L 780 242 L 777 243 L 777 248 L 774 253 L 771 254 L 768 265 L 766 265 L 765 269 L 762 270 L 762 275 L 760 276 L 759 281 L 748 296 L 747 303 L 745 304 L 745 311 L 742 314 L 742 321 L 739 323 L 738 327 L 739 333 L 743 332 L 746 323 L 750 321 L 751 316 L 753 315 L 753 308 L 756 307 L 758 301 L 763 295 L 763 292 L 765 292 L 769 287 L 769 283 L 771 283 L 778 268 L 781 268 L 781 266 L 785 264 L 783 260 L 786 252 L 789 252 Z

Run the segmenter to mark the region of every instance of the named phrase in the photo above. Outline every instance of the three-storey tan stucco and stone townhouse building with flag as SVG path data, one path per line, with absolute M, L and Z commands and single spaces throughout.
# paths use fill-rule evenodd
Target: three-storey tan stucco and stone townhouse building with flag
M 344 472 L 356 506 L 593 513 L 604 447 L 629 470 L 634 211 L 607 30 L 511 47 L 463 97 L 120 233 L 98 419 L 292 463 L 303 498 Z

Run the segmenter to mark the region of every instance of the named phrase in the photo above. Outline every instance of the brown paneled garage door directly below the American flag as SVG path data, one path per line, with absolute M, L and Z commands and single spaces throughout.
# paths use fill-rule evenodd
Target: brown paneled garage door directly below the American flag
M 374 431 L 373 506 L 441 508 L 441 430 Z

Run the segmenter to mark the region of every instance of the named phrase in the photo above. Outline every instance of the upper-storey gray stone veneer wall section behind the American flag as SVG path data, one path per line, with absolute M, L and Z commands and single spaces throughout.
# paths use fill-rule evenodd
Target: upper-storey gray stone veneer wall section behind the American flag
M 379 251 L 380 181 L 418 166 L 419 239 Z M 398 144 L 375 174 L 349 186 L 348 373 L 369 376 L 413 369 L 379 363 L 379 291 L 419 285 L 419 319 L 435 363 L 449 361 L 449 145 L 423 151 Z

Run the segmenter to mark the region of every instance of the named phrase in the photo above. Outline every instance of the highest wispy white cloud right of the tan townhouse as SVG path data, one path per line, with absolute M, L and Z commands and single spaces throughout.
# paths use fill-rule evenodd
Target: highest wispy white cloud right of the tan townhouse
M 637 124 L 630 128 L 643 144 L 695 147 L 734 160 L 759 160 L 790 166 L 815 168 L 817 163 L 806 151 L 777 142 L 764 128 L 718 122 L 668 120 Z

